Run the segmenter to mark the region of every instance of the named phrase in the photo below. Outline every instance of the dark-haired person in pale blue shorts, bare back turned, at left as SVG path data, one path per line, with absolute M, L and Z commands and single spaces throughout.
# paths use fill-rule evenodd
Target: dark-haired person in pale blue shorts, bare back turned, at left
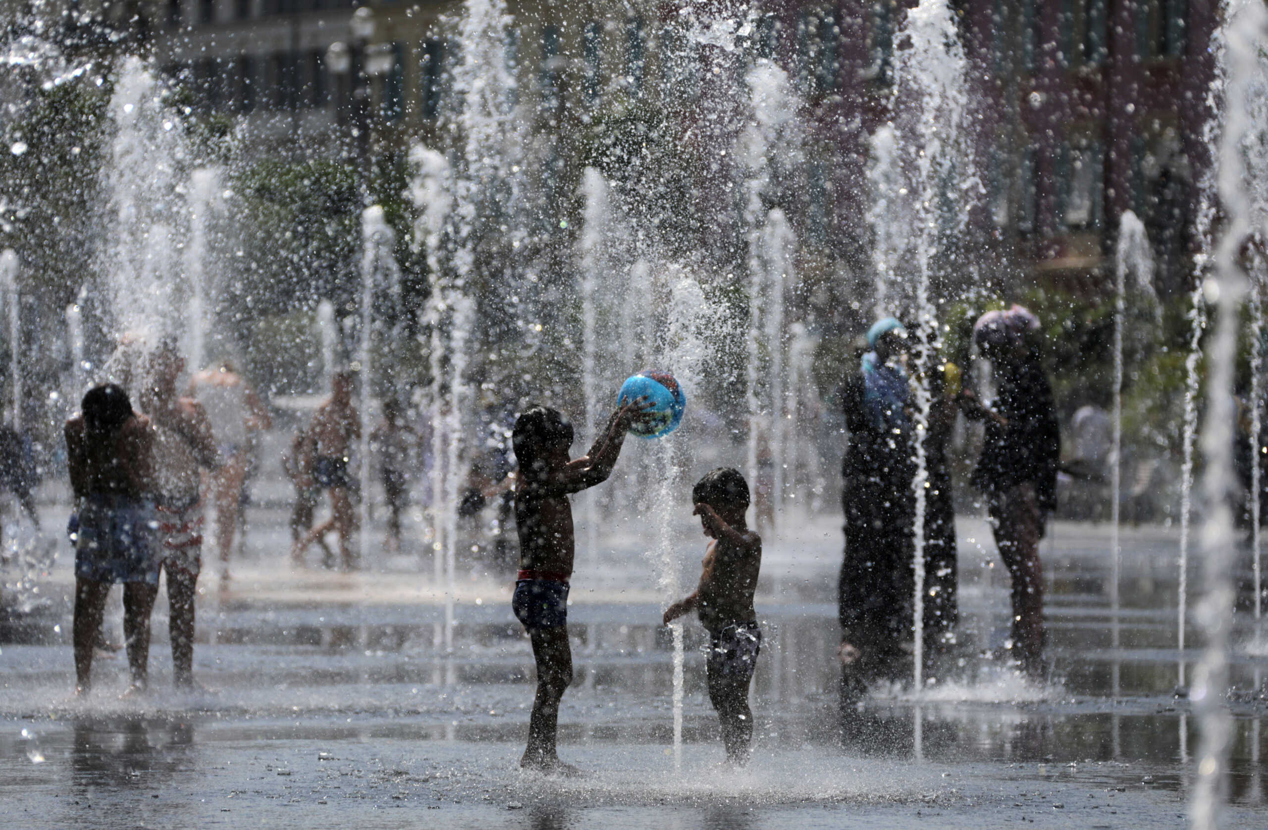
M 89 692 L 93 647 L 114 583 L 123 583 L 129 693 L 139 692 L 148 679 L 150 612 L 162 562 L 152 497 L 153 430 L 145 415 L 132 411 L 128 393 L 108 383 L 89 390 L 80 414 L 66 421 L 66 449 L 76 503 L 76 694 Z

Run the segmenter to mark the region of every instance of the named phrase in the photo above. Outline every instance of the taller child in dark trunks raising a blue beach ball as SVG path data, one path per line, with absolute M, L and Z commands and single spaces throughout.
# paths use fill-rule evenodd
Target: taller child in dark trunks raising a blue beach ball
M 558 411 L 534 406 L 511 433 L 520 473 L 515 487 L 515 523 L 520 534 L 520 572 L 511 607 L 533 641 L 538 690 L 529 720 L 529 745 L 520 767 L 576 774 L 555 753 L 559 701 L 572 683 L 568 645 L 568 580 L 576 541 L 568 496 L 602 484 L 612 472 L 625 433 L 647 399 L 628 401 L 607 421 L 595 445 L 568 459 L 572 424 Z

